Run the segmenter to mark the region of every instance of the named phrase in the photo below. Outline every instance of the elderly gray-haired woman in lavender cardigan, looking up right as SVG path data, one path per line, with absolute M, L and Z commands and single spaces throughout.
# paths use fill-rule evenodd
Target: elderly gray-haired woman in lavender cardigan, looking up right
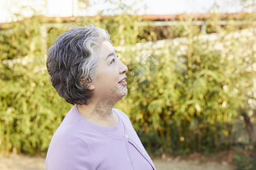
M 155 169 L 125 113 L 113 108 L 127 94 L 127 67 L 108 31 L 73 28 L 48 50 L 52 86 L 73 108 L 52 137 L 46 168 Z

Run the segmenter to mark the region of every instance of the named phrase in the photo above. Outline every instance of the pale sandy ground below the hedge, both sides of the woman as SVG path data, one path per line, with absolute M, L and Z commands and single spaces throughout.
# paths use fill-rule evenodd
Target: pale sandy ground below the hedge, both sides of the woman
M 155 158 L 153 162 L 156 169 L 160 170 L 233 170 L 232 157 L 229 152 L 225 154 L 215 154 L 210 156 L 202 156 L 200 154 L 193 154 L 185 159 L 179 156 L 176 158 Z M 46 170 L 45 158 L 27 155 L 9 155 L 0 156 L 0 169 L 1 170 Z

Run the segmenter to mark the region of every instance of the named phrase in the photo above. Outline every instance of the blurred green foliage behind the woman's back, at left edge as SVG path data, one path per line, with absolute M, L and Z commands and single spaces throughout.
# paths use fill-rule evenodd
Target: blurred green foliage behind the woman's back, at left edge
M 65 115 L 59 111 L 71 108 L 49 83 L 40 24 L 38 18 L 25 19 L 0 32 L 1 152 L 46 151 Z

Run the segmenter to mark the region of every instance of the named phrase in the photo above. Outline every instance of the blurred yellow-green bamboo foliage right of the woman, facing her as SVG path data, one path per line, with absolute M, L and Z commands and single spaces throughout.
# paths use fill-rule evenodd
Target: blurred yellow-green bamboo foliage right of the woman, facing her
M 240 109 L 255 100 L 255 37 L 245 31 L 209 40 L 193 36 L 192 26 L 184 29 L 186 38 L 163 45 L 160 54 L 154 45 L 149 56 L 134 56 L 132 49 L 123 54 L 131 80 L 117 105 L 155 155 L 228 149 L 236 142 L 230 137 Z

